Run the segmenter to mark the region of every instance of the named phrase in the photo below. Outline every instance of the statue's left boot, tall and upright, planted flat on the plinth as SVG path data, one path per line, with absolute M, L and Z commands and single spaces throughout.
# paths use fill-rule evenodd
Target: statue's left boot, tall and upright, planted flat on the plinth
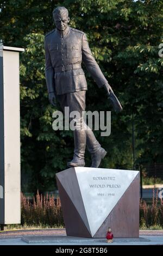
M 68 167 L 85 166 L 84 154 L 86 146 L 86 133 L 84 130 L 74 130 L 74 156 Z

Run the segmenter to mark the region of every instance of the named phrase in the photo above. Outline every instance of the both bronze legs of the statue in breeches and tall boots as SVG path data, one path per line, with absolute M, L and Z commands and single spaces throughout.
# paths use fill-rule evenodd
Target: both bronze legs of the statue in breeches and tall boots
M 79 111 L 80 116 L 82 117 L 82 111 L 85 111 L 85 90 L 70 93 L 57 95 L 57 99 L 60 103 L 62 111 L 64 112 L 64 107 L 70 107 L 71 111 Z M 83 117 L 77 120 L 77 125 L 81 125 L 84 123 Z M 84 131 L 81 129 L 80 131 L 74 131 L 74 157 L 71 162 L 68 163 L 68 166 L 84 166 L 84 153 L 85 153 L 85 145 L 87 149 L 91 153 L 92 164 L 91 167 L 99 167 L 101 160 L 106 155 L 106 151 L 101 147 L 99 142 L 97 141 L 93 131 L 87 127 L 84 123 L 85 129 Z

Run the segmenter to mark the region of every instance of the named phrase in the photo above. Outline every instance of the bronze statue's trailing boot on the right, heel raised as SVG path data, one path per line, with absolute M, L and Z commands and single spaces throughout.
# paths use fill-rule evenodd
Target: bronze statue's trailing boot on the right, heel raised
M 91 167 L 98 168 L 107 152 L 101 147 L 92 130 L 86 130 L 86 146 L 91 153 Z

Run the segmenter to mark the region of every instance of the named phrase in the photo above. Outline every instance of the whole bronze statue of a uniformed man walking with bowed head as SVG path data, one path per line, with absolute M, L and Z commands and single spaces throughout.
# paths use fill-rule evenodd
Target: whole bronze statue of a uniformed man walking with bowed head
M 85 111 L 85 93 L 87 83 L 81 63 L 96 81 L 99 88 L 104 87 L 110 95 L 112 92 L 108 81 L 102 74 L 95 58 L 92 56 L 86 34 L 68 26 L 70 18 L 65 7 L 53 10 L 56 29 L 45 36 L 46 83 L 49 101 L 55 106 L 59 101 L 62 111 L 68 106 L 71 111 Z M 83 120 L 78 120 L 81 123 Z M 98 167 L 106 151 L 97 141 L 92 130 L 74 130 L 74 156 L 68 167 L 85 166 L 85 147 L 91 153 L 91 167 Z

